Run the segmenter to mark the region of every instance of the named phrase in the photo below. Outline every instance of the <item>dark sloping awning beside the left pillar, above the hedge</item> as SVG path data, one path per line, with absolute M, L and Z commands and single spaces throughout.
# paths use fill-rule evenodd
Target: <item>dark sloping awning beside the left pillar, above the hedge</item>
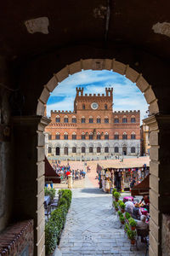
M 60 183 L 59 175 L 54 171 L 53 167 L 48 162 L 48 159 L 46 156 L 45 156 L 45 182 Z

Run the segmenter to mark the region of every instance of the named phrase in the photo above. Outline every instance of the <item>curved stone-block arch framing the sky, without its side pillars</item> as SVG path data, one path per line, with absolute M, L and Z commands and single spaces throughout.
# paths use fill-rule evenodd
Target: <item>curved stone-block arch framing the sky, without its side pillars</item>
M 125 75 L 127 79 L 135 83 L 139 90 L 144 94 L 146 102 L 150 105 L 150 115 L 159 113 L 158 100 L 156 99 L 155 93 L 152 87 L 142 76 L 142 73 L 138 73 L 129 65 L 125 65 L 122 62 L 116 61 L 116 59 L 88 59 L 80 60 L 66 65 L 58 73 L 55 73 L 53 78 L 48 81 L 48 84 L 44 85 L 42 94 L 38 99 L 37 104 L 37 115 L 44 115 L 45 104 L 48 102 L 50 92 L 69 75 L 81 72 L 83 70 L 112 70 L 116 73 Z

